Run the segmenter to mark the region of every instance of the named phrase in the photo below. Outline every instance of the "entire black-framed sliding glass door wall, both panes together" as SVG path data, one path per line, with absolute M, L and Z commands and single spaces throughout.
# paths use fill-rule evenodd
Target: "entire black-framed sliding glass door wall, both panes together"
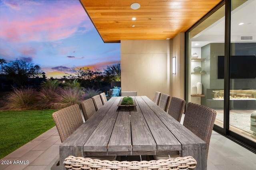
M 226 0 L 186 32 L 186 100 L 215 109 L 214 129 L 254 150 L 255 9 L 256 0 Z

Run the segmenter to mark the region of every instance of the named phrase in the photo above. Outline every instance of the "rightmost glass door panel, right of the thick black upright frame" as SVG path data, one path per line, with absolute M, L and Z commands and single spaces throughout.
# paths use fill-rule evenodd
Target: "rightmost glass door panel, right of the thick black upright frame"
M 230 131 L 256 142 L 256 0 L 231 1 Z

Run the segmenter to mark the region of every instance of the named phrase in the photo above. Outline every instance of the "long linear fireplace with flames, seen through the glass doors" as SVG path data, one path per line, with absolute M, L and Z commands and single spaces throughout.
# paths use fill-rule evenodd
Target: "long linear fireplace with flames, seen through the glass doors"
M 208 107 L 224 107 L 223 89 L 206 89 Z M 256 109 L 256 89 L 230 90 L 230 109 Z

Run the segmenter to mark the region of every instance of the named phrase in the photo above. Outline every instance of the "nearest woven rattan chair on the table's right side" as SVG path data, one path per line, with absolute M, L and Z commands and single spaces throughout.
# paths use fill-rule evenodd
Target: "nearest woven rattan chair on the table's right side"
M 206 143 L 206 158 L 208 157 L 215 118 L 215 110 L 191 102 L 188 103 L 183 125 Z

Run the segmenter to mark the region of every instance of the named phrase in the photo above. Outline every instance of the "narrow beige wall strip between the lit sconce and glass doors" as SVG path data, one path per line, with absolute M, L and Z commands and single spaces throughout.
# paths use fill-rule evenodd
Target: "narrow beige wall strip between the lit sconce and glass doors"
M 185 33 L 172 39 L 172 57 L 176 57 L 176 74 L 172 74 L 172 96 L 185 99 Z

